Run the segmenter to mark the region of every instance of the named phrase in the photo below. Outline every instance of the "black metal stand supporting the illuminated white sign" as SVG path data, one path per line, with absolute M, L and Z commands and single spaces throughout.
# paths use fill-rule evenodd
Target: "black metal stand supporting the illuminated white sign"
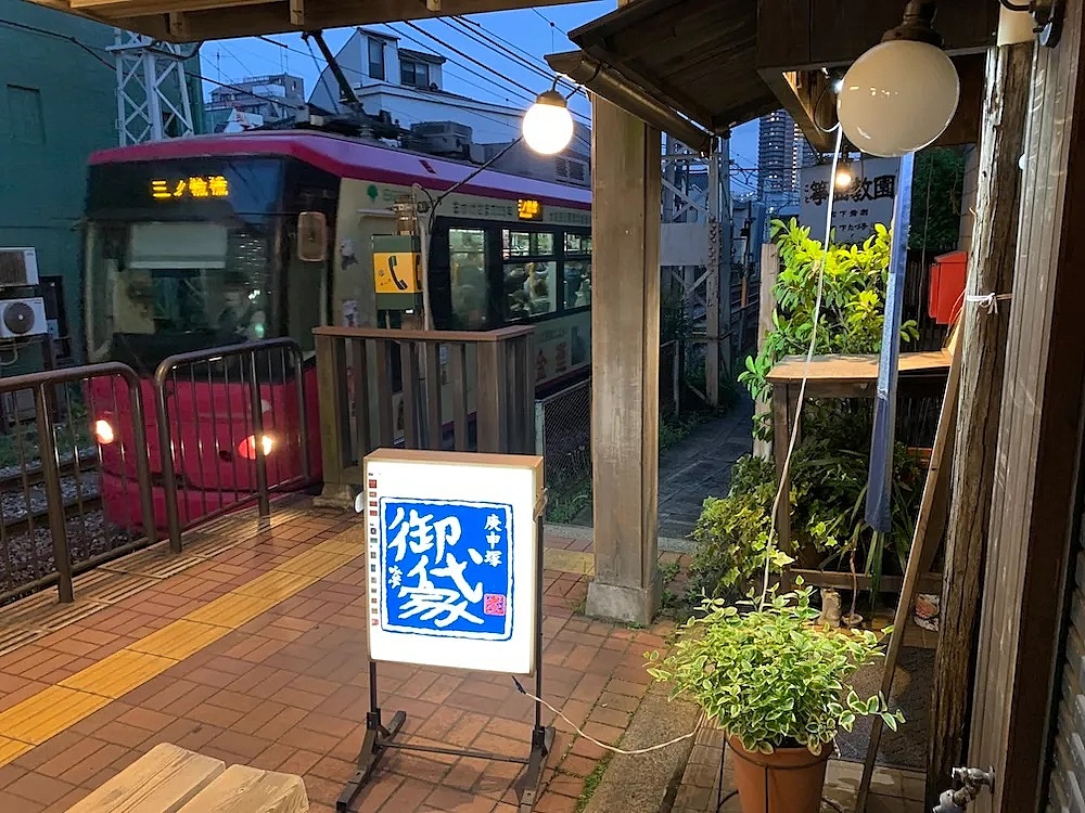
M 546 499 L 544 498 L 542 506 L 545 505 Z M 397 741 L 396 737 L 407 722 L 407 712 L 395 712 L 388 725 L 384 725 L 376 694 L 376 661 L 370 658 L 369 712 L 366 714 L 366 738 L 362 740 L 361 751 L 358 754 L 357 771 L 343 788 L 343 792 L 340 793 L 340 798 L 335 802 L 336 813 L 347 813 L 350 810 L 350 805 L 361 792 L 366 783 L 372 778 L 381 759 L 390 750 L 445 753 L 452 757 L 471 757 L 474 759 L 492 760 L 494 762 L 514 762 L 526 765 L 526 770 L 516 783 L 520 790 L 519 813 L 532 813 L 538 797 L 539 783 L 542 778 L 542 767 L 546 765 L 547 757 L 553 747 L 554 735 L 553 726 L 542 725 L 542 702 L 539 700 L 542 697 L 542 506 L 536 508 L 535 516 L 535 724 L 532 727 L 531 751 L 528 756 L 526 758 L 509 757 L 489 751 L 441 748 Z M 523 693 L 524 689 L 520 685 L 520 682 L 515 678 L 512 680 L 516 684 L 516 688 Z

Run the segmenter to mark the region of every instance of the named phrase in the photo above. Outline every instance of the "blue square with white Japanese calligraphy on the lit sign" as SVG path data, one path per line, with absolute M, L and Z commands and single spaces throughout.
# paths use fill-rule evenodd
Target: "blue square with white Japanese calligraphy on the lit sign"
M 511 505 L 382 499 L 380 515 L 385 629 L 509 640 Z

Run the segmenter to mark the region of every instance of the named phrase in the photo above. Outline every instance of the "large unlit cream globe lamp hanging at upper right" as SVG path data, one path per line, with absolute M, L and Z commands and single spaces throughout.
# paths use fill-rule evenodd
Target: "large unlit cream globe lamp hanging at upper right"
M 896 158 L 922 150 L 953 120 L 960 79 L 933 20 L 933 2 L 910 0 L 902 24 L 844 75 L 837 118 L 864 153 Z

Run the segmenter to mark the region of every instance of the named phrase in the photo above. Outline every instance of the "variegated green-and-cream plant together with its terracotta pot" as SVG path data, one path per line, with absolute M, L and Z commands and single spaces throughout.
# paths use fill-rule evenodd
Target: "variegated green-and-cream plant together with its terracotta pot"
M 702 609 L 666 657 L 648 654 L 648 671 L 724 731 L 743 813 L 818 813 L 837 733 L 868 714 L 893 731 L 904 722 L 883 697 L 861 699 L 848 684 L 881 657 L 878 636 L 818 628 L 808 588 L 738 607 L 710 598 Z

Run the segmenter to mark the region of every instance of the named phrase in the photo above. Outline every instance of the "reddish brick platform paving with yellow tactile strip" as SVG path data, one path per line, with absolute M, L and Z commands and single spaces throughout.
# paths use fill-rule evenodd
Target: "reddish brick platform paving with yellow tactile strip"
M 0 810 L 66 810 L 158 743 L 301 774 L 311 810 L 333 810 L 368 709 L 362 545 L 347 515 L 277 507 L 270 529 L 222 520 L 180 557 L 152 549 L 80 577 L 74 606 L 0 609 Z M 545 693 L 613 743 L 669 629 L 577 615 L 588 545 L 547 541 Z M 382 666 L 380 687 L 416 741 L 526 756 L 532 704 L 508 676 Z M 574 811 L 603 756 L 557 727 L 539 813 Z M 513 813 L 521 770 L 392 753 L 356 809 Z

